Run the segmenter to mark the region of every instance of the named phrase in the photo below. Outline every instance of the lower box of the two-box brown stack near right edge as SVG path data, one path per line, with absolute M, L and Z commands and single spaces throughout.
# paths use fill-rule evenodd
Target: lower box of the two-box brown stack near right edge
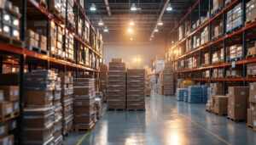
M 246 120 L 247 107 L 228 105 L 228 116 L 233 120 Z

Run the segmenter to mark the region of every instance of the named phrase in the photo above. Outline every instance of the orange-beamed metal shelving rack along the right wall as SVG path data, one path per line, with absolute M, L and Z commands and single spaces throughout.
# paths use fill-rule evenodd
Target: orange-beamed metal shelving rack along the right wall
M 225 1 L 224 1 L 225 2 Z M 208 82 L 212 82 L 212 81 L 222 81 L 224 82 L 224 92 L 226 92 L 226 81 L 241 81 L 243 86 L 247 86 L 247 81 L 256 81 L 256 78 L 249 78 L 247 77 L 247 64 L 249 63 L 255 63 L 256 59 L 246 59 L 246 54 L 247 54 L 247 41 L 243 41 L 243 40 L 253 40 L 256 38 L 256 33 L 254 32 L 250 32 L 254 29 L 256 29 L 256 22 L 251 23 L 250 25 L 245 25 L 245 21 L 246 21 L 246 3 L 247 0 L 233 0 L 230 3 L 228 3 L 227 5 L 224 6 L 224 8 L 222 8 L 220 11 L 218 11 L 217 14 L 211 16 L 211 8 L 212 8 L 212 0 L 208 0 L 207 2 L 209 4 L 208 6 L 208 11 L 209 11 L 209 15 L 210 18 L 205 21 L 204 23 L 202 23 L 199 27 L 197 27 L 195 30 L 193 30 L 188 36 L 184 36 L 182 40 L 177 41 L 175 44 L 173 44 L 173 42 L 176 40 L 175 35 L 177 34 L 177 28 L 179 25 L 182 25 L 184 23 L 184 21 L 186 19 L 189 19 L 190 24 L 192 24 L 192 12 L 193 10 L 196 9 L 198 11 L 198 15 L 199 18 L 201 16 L 201 0 L 198 0 L 197 2 L 195 2 L 195 4 L 189 9 L 189 12 L 187 14 L 184 15 L 184 17 L 177 23 L 177 25 L 175 25 L 175 27 L 172 29 L 172 31 L 170 31 L 169 35 L 168 35 L 168 39 L 167 39 L 167 44 L 168 44 L 168 52 L 169 51 L 173 51 L 174 49 L 176 49 L 177 47 L 181 46 L 183 44 L 183 42 L 185 42 L 186 40 L 188 40 L 189 38 L 192 38 L 192 36 L 195 36 L 196 33 L 199 33 L 206 27 L 209 26 L 209 42 L 207 42 L 206 44 L 200 45 L 200 47 L 195 47 L 194 49 L 191 49 L 189 52 L 185 52 L 180 56 L 177 56 L 177 58 L 175 59 L 170 59 L 171 56 L 168 56 L 168 60 L 170 60 L 171 62 L 179 62 L 179 60 L 185 59 L 186 57 L 189 56 L 193 56 L 193 54 L 195 53 L 199 53 L 200 55 L 200 62 L 202 59 L 201 56 L 201 52 L 203 50 L 208 49 L 207 51 L 209 52 L 209 65 L 208 66 L 200 66 L 199 68 L 195 68 L 195 69 L 188 69 L 188 70 L 181 70 L 179 69 L 179 64 L 177 64 L 178 66 L 178 70 L 176 70 L 174 73 L 176 75 L 177 78 L 180 79 L 185 79 L 185 80 L 191 80 L 191 81 L 200 81 L 200 83 L 202 81 L 208 81 Z M 226 20 L 225 20 L 225 15 L 227 13 L 227 11 L 230 10 L 230 8 L 234 8 L 236 6 L 236 4 L 238 3 L 242 3 L 242 8 L 243 8 L 243 12 L 242 12 L 242 17 L 243 17 L 243 27 L 241 27 L 241 29 L 238 29 L 236 31 L 231 32 L 230 34 L 226 34 L 226 30 L 225 30 L 225 24 L 226 24 Z M 190 18 L 189 18 L 190 15 Z M 219 18 L 222 17 L 222 18 Z M 223 20 L 223 24 L 224 24 L 224 31 L 223 34 L 224 36 L 219 37 L 217 40 L 212 41 L 212 22 L 214 22 L 214 20 Z M 183 31 L 184 31 L 185 27 L 183 26 Z M 192 26 L 191 26 L 192 29 Z M 201 40 L 201 35 L 199 35 L 200 40 Z M 230 44 L 228 43 L 227 40 L 232 39 L 232 38 L 237 38 L 240 37 L 240 41 L 241 45 L 242 45 L 242 60 L 236 61 L 236 62 L 230 62 L 230 63 L 226 63 L 226 46 L 229 46 Z M 201 41 L 200 41 L 201 42 Z M 234 41 L 235 43 L 238 43 L 236 41 Z M 191 41 L 192 43 L 192 41 Z M 213 64 L 212 65 L 212 49 L 213 46 L 217 46 L 217 45 L 222 45 L 224 48 L 224 63 L 223 64 Z M 222 47 L 218 47 L 217 49 L 219 50 Z M 167 53 L 168 53 L 167 52 Z M 170 57 L 170 58 L 169 58 Z M 236 65 L 242 65 L 243 68 L 243 76 L 241 78 L 226 78 L 225 74 L 226 74 L 226 68 L 230 67 L 236 64 Z M 185 65 L 185 64 L 184 64 Z M 201 65 L 201 63 L 200 63 Z M 224 69 L 224 78 L 212 78 L 212 69 L 215 68 L 223 68 Z M 201 71 L 203 70 L 210 70 L 211 75 L 210 78 L 201 78 Z M 193 74 L 193 73 L 199 73 L 200 77 L 199 78 L 195 78 L 193 77 L 193 75 L 191 75 L 190 77 L 188 77 L 188 74 Z

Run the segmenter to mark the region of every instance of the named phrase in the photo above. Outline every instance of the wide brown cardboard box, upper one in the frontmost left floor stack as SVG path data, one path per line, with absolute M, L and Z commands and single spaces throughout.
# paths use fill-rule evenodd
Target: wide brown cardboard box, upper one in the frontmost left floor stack
M 53 92 L 52 91 L 25 91 L 25 105 L 26 106 L 45 106 L 52 103 Z

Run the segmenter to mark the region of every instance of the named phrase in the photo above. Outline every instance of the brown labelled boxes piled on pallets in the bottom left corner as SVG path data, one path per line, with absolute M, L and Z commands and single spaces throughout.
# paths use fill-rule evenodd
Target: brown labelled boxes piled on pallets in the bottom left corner
M 9 75 L 12 77 L 13 75 Z M 15 75 L 18 76 L 18 75 Z M 20 114 L 20 90 L 17 80 L 10 81 L 6 75 L 0 76 L 0 144 L 15 143 L 16 118 Z M 14 77 L 15 79 L 19 77 Z M 17 81 L 17 83 L 14 83 Z

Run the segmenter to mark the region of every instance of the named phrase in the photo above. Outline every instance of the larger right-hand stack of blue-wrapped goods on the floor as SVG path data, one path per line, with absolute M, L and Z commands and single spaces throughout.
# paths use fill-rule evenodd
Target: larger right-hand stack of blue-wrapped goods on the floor
M 201 86 L 189 86 L 189 103 L 201 103 Z

